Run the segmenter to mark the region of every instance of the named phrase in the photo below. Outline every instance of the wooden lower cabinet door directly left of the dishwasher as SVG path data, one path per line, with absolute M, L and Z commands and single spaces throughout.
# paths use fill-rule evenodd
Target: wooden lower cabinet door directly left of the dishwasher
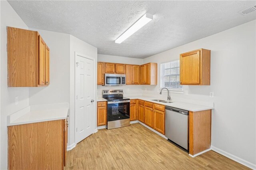
M 153 128 L 164 134 L 164 111 L 154 109 L 153 113 Z

